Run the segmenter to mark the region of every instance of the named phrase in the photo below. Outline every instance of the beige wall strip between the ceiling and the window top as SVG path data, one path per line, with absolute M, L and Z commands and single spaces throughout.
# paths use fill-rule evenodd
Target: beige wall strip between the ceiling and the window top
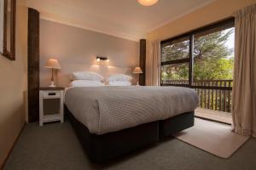
M 201 26 L 207 26 L 212 22 L 229 18 L 237 9 L 252 3 L 256 3 L 256 0 L 216 0 L 203 8 L 172 21 L 166 26 L 148 33 L 147 38 L 148 40 L 163 40 L 175 37 Z

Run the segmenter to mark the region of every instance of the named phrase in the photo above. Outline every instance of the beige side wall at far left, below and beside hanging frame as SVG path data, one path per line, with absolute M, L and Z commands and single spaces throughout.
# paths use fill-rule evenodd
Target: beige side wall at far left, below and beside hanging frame
M 0 55 L 0 168 L 25 123 L 27 8 L 17 6 L 16 60 Z

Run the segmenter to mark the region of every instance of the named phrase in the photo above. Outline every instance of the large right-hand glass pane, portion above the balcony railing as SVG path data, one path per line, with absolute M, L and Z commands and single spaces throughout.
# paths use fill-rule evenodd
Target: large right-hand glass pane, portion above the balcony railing
M 232 80 L 235 28 L 195 35 L 194 72 L 196 80 Z

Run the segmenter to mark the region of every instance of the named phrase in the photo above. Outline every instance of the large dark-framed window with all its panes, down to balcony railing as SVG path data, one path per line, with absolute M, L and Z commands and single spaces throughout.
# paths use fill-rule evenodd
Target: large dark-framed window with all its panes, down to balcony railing
M 234 31 L 230 19 L 162 41 L 161 85 L 222 86 L 213 81 L 232 80 Z

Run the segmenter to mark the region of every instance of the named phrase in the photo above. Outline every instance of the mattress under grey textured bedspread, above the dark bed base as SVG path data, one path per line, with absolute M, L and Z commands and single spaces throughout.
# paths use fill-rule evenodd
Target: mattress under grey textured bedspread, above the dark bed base
M 66 90 L 65 105 L 101 135 L 194 111 L 198 96 L 180 87 L 74 87 Z

